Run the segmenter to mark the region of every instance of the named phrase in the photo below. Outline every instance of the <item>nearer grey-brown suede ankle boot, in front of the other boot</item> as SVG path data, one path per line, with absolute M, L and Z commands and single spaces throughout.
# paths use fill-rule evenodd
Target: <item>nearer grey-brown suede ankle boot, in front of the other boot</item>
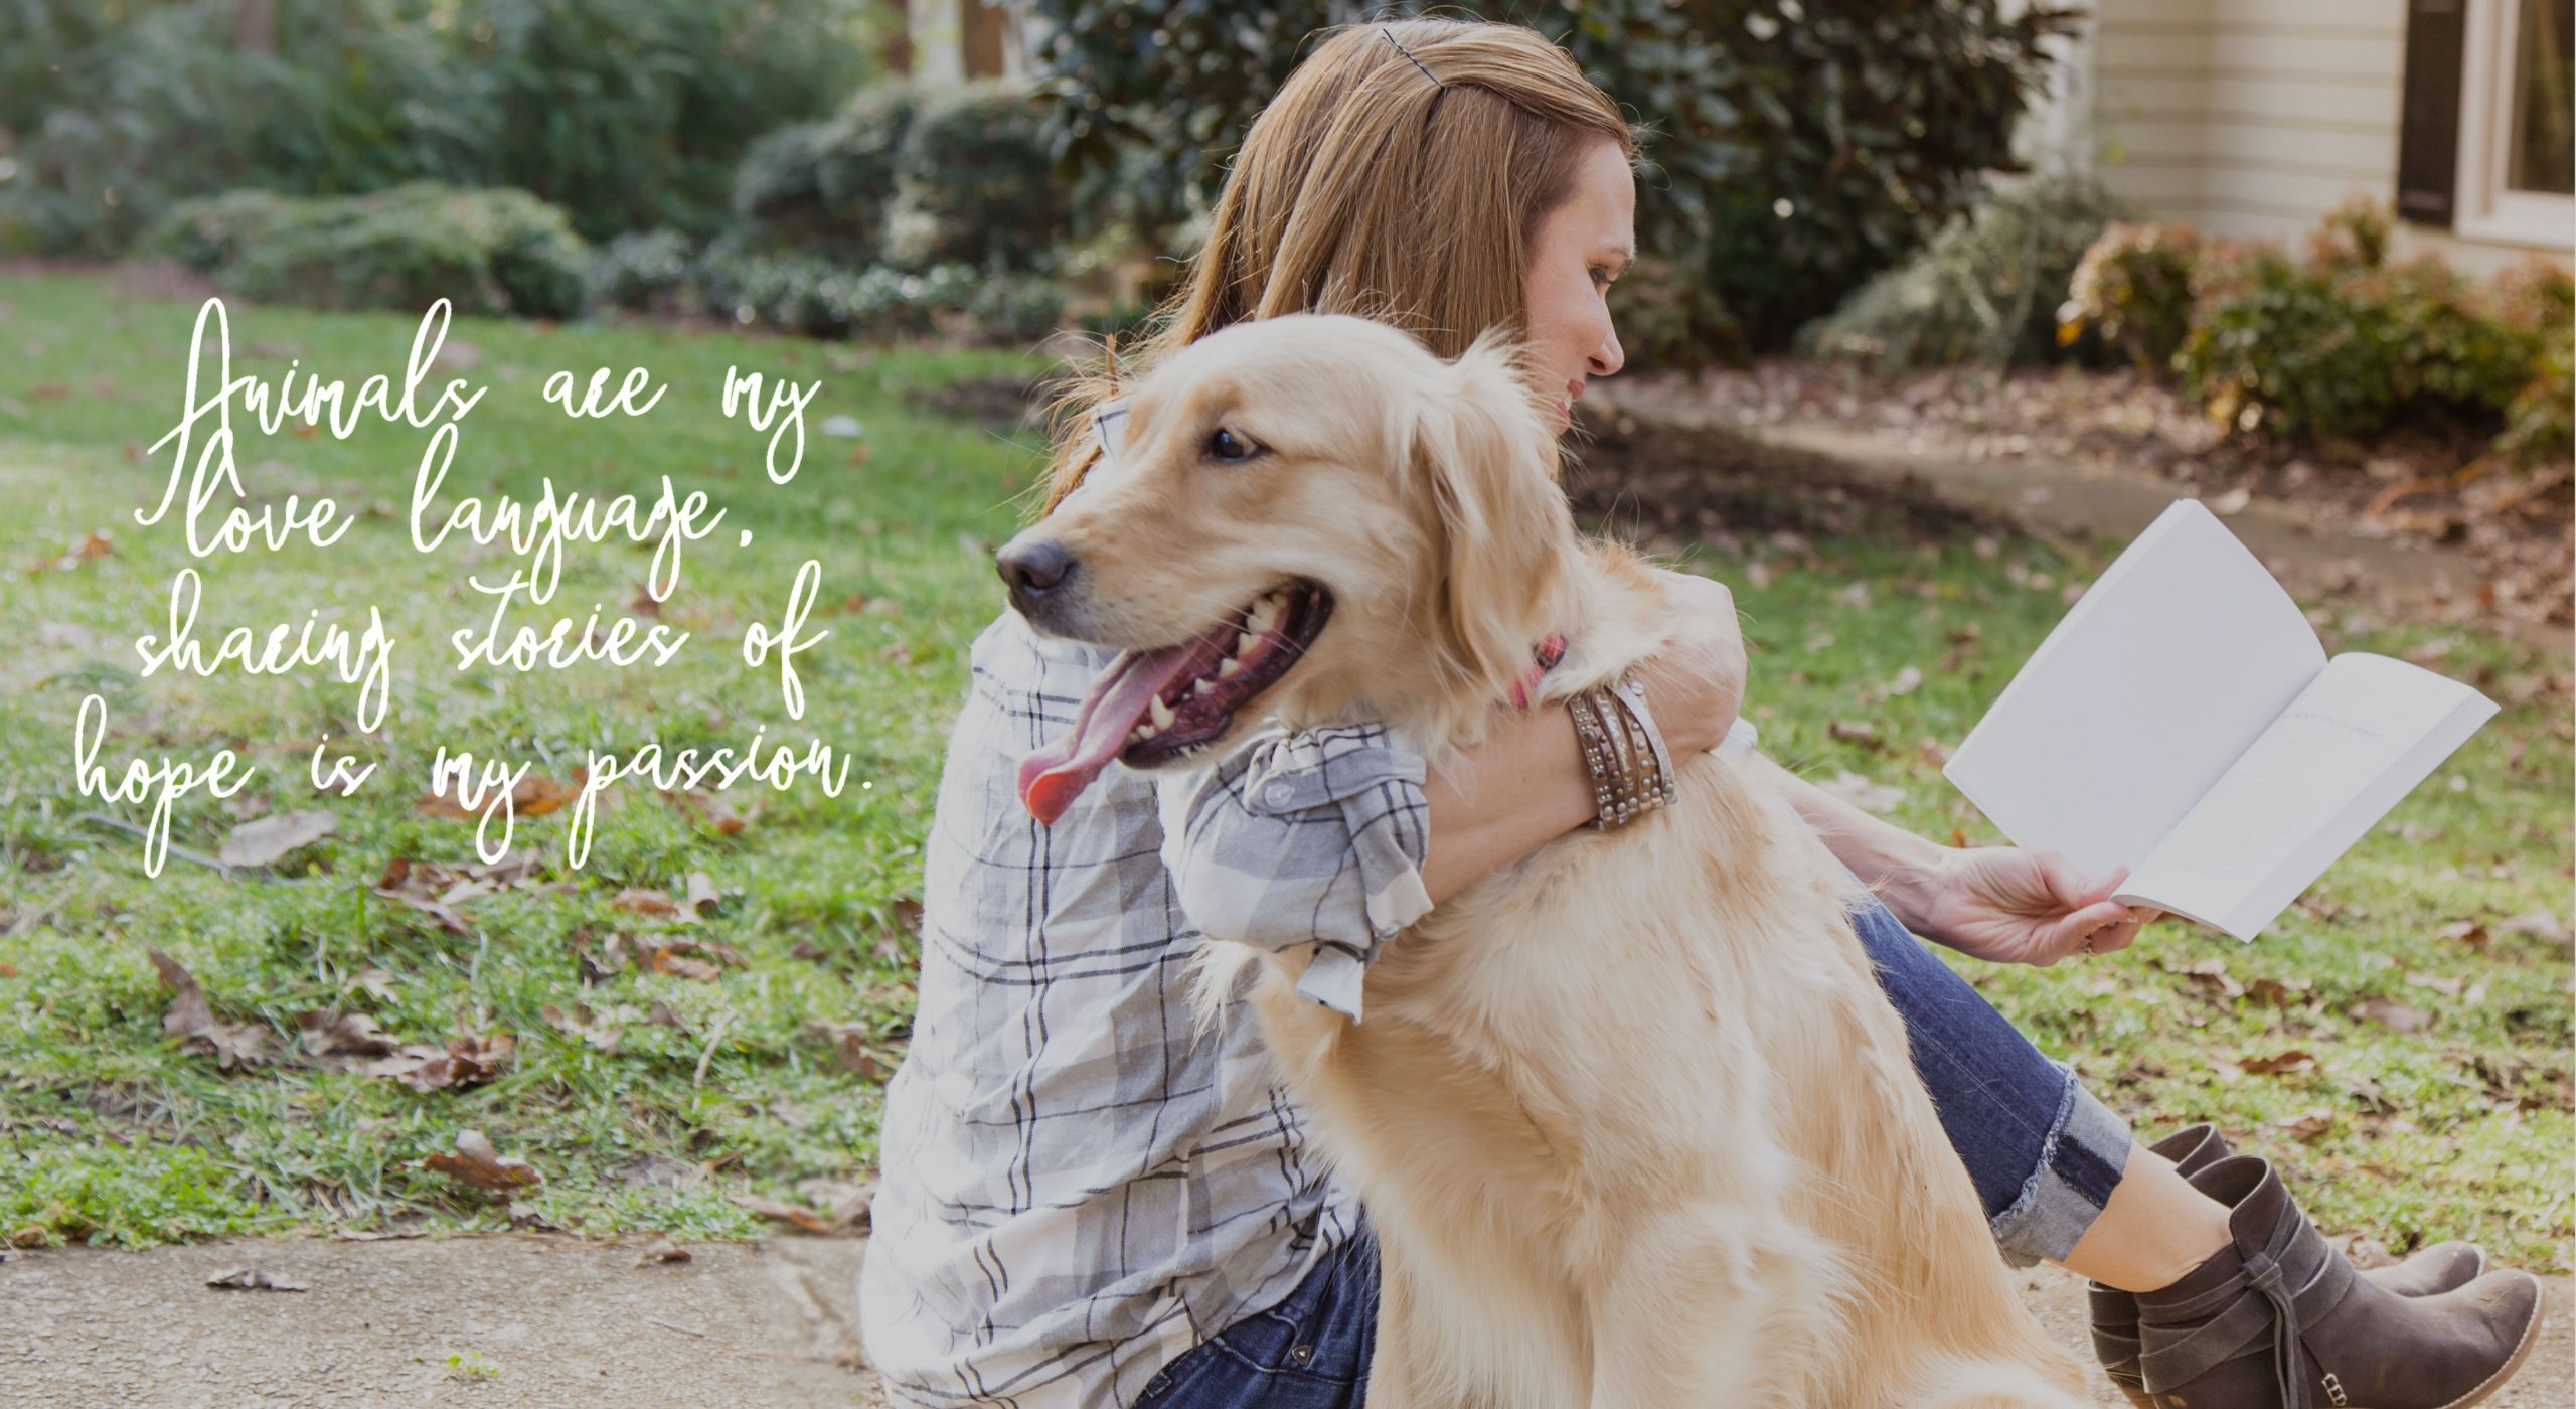
M 2396 1296 L 2308 1224 L 2264 1159 L 2192 1180 L 2228 1206 L 2228 1247 L 2138 1296 L 2141 1370 L 2156 1409 L 2465 1409 L 2540 1339 L 2540 1283 L 2499 1270 Z

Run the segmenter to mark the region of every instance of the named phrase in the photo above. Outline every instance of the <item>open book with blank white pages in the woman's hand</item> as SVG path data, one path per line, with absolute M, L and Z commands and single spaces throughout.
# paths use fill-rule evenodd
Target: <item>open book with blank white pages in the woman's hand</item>
M 2251 940 L 2496 706 L 2365 652 L 2197 500 L 2164 510 L 2040 641 L 1945 773 L 2007 837 L 2115 899 Z

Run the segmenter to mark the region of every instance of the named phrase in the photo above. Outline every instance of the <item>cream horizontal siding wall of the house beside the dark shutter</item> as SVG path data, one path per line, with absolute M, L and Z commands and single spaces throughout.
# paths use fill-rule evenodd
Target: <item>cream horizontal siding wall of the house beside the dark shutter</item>
M 2393 201 L 2406 0 L 2094 0 L 2094 15 L 2089 149 L 2112 193 L 2280 240 L 2347 196 Z M 2530 252 L 2403 229 L 2465 270 Z

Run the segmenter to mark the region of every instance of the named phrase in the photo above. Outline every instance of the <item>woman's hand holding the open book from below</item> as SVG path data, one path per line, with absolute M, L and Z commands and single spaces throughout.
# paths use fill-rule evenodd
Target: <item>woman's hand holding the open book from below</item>
M 2087 881 L 2053 850 L 1942 850 L 1888 878 L 1888 909 L 1909 930 L 1994 963 L 2050 966 L 2071 953 L 2112 953 L 2164 914 L 2112 902 L 2128 868 Z

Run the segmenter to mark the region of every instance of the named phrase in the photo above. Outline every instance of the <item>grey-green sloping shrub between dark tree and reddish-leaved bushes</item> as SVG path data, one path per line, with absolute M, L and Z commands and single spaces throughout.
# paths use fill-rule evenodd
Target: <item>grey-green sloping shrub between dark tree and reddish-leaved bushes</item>
M 1801 343 L 1886 368 L 2048 361 L 2071 345 L 2058 337 L 2058 301 L 2110 214 L 2089 180 L 2012 185 L 1860 286 Z

